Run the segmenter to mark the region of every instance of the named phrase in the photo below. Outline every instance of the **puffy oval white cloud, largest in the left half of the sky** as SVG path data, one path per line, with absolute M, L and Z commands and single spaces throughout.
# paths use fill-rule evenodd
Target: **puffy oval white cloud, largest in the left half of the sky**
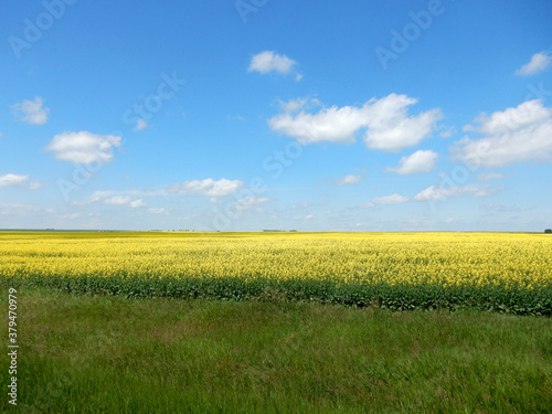
M 114 135 L 67 131 L 56 135 L 45 150 L 55 152 L 60 160 L 75 163 L 107 162 L 113 159 L 110 149 L 120 147 L 120 141 L 121 138 Z

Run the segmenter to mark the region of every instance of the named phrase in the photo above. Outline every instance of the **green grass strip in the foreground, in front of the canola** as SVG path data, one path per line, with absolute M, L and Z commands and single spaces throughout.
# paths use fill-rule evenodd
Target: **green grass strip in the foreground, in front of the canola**
M 8 293 L 0 289 L 8 319 Z M 22 413 L 548 413 L 552 321 L 22 287 Z M 4 329 L 4 332 L 7 330 Z M 6 343 L 8 336 L 6 335 Z M 6 369 L 0 370 L 7 389 Z M 6 393 L 4 393 L 6 394 Z

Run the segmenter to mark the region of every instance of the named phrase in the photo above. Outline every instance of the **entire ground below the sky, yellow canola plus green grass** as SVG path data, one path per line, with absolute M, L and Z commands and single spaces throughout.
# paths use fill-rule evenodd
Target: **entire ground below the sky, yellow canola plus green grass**
M 550 252 L 544 234 L 1 232 L 21 348 L 0 406 L 548 413 Z

